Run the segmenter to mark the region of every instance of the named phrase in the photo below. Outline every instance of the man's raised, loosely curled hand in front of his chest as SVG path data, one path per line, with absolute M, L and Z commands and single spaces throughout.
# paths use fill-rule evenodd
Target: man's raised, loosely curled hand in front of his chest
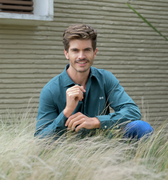
M 83 86 L 75 85 L 68 88 L 66 91 L 66 107 L 63 111 L 64 116 L 67 118 L 73 113 L 79 101 L 84 98 L 83 93 L 85 93 Z

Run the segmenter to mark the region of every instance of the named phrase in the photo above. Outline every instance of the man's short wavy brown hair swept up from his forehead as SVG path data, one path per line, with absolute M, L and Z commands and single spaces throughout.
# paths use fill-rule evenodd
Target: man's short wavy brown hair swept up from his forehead
M 73 39 L 92 41 L 93 51 L 96 49 L 97 31 L 85 24 L 75 24 L 69 26 L 63 33 L 64 49 L 68 52 L 69 42 Z

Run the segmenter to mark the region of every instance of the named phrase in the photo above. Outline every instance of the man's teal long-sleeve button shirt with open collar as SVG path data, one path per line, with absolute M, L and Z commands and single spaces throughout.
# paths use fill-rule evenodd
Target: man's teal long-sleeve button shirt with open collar
M 42 89 L 39 99 L 35 136 L 58 136 L 66 132 L 66 90 L 75 85 L 66 69 L 51 79 Z M 114 113 L 110 113 L 109 106 Z M 73 114 L 81 112 L 88 117 L 97 117 L 102 129 L 112 128 L 125 121 L 141 119 L 139 108 L 115 76 L 106 70 L 90 68 L 84 100 L 79 101 Z M 89 132 L 89 130 L 88 130 Z

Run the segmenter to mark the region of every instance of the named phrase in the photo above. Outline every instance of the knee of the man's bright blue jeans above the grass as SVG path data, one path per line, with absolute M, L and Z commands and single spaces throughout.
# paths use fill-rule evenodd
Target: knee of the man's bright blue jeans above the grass
M 124 128 L 124 138 L 140 139 L 143 136 L 149 136 L 153 133 L 153 128 L 149 123 L 137 120 L 130 122 Z

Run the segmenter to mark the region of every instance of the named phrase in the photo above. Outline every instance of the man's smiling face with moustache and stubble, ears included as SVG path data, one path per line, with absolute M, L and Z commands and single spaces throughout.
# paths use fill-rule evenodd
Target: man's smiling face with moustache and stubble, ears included
M 92 41 L 74 39 L 69 45 L 68 52 L 64 50 L 64 53 L 69 59 L 71 70 L 80 73 L 90 70 L 97 53 L 97 49 L 93 51 Z

